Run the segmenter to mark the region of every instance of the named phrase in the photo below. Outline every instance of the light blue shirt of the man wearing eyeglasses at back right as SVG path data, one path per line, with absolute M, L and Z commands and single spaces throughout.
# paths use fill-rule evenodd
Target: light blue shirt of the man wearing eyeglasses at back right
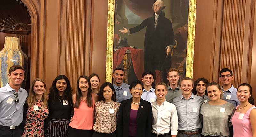
M 223 99 L 224 100 L 226 100 L 227 102 L 232 103 L 235 108 L 236 108 L 236 106 L 240 105 L 240 101 L 236 97 L 237 89 L 234 88 L 233 85 L 227 91 L 224 91 L 224 89 L 222 87 L 221 87 L 221 90 L 223 91 Z M 227 95 L 231 95 L 231 97 L 229 96 L 230 99 L 229 99 L 229 97 L 227 97 Z

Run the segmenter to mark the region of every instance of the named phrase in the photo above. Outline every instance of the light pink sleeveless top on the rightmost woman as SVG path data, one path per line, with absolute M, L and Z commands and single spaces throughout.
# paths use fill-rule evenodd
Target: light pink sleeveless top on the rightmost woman
M 239 107 L 238 105 L 236 109 Z M 252 137 L 252 127 L 250 122 L 250 112 L 252 109 L 256 109 L 255 106 L 251 107 L 247 112 L 239 113 L 235 112 L 231 122 L 233 125 L 234 136 L 233 137 Z

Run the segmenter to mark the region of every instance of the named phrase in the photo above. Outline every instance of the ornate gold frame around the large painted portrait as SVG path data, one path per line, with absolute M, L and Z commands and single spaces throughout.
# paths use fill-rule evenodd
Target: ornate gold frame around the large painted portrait
M 106 81 L 112 82 L 115 0 L 108 0 Z M 189 0 L 186 77 L 193 78 L 196 0 Z

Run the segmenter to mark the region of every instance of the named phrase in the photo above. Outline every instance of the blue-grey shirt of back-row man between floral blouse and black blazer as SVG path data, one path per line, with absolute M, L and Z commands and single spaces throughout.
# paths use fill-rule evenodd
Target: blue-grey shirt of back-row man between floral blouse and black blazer
M 123 100 L 132 98 L 132 95 L 129 90 L 129 86 L 126 83 L 123 83 L 120 87 L 113 84 L 116 90 L 116 102 L 121 103 Z

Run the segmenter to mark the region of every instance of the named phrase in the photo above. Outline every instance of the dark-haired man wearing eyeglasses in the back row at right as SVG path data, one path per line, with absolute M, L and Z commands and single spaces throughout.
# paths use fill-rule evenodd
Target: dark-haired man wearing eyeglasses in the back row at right
M 232 103 L 236 108 L 240 102 L 236 97 L 237 89 L 232 85 L 232 81 L 234 80 L 233 72 L 228 68 L 223 68 L 220 71 L 219 80 L 222 83 L 223 99 Z

